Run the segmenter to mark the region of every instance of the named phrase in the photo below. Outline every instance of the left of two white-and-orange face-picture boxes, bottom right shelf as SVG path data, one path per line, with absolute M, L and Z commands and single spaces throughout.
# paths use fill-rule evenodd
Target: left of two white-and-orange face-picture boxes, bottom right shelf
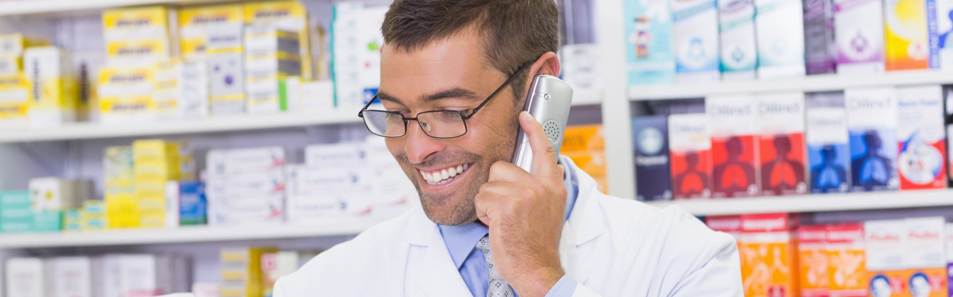
M 863 222 L 867 257 L 868 296 L 909 296 L 903 266 L 906 246 L 904 220 Z

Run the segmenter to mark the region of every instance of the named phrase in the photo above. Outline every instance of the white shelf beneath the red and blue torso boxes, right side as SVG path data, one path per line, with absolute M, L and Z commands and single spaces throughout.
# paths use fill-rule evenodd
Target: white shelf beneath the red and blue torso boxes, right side
M 678 206 L 699 216 L 770 212 L 817 212 L 838 210 L 927 208 L 953 206 L 953 189 L 882 191 L 801 196 L 690 199 L 649 202 L 666 208 Z

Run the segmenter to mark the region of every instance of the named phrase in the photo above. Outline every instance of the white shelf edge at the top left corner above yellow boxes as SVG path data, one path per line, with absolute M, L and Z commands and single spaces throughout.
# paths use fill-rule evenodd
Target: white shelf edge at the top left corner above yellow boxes
M 223 0 L 6 0 L 0 1 L 0 15 L 59 13 L 103 10 L 152 4 L 196 4 Z

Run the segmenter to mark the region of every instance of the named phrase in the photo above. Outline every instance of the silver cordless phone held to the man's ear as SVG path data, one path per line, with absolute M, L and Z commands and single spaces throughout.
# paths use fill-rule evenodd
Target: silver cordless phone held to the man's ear
M 572 102 L 573 89 L 552 75 L 537 75 L 526 93 L 526 106 L 523 110 L 529 111 L 539 121 L 557 155 L 562 147 L 562 132 L 566 129 Z M 529 137 L 526 137 L 521 128 L 517 131 L 513 164 L 526 171 L 533 166 L 533 148 L 530 148 Z

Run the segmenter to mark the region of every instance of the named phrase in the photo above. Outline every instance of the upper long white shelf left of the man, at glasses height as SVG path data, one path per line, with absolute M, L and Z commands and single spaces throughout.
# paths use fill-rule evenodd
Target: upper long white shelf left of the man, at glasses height
M 124 125 L 74 123 L 56 128 L 0 129 L 0 143 L 274 129 L 360 123 L 361 121 L 360 118 L 357 117 L 357 108 L 328 110 L 329 111 L 326 112 L 279 113 L 270 115 L 213 116 L 205 119 Z

